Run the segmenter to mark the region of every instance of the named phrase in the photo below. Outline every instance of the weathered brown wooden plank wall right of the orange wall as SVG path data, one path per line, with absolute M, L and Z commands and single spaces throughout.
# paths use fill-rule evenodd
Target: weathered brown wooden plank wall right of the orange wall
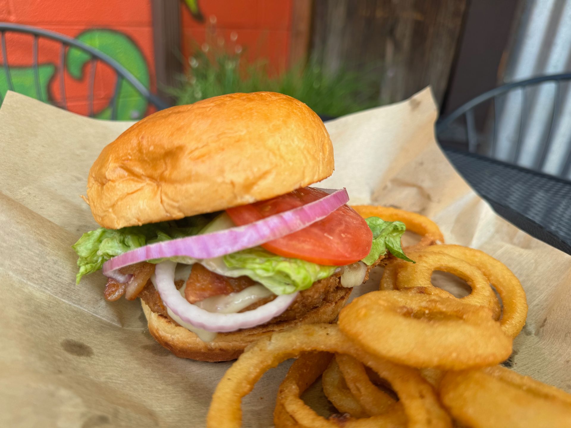
M 325 68 L 377 66 L 379 99 L 428 84 L 443 99 L 467 0 L 315 0 L 312 53 Z

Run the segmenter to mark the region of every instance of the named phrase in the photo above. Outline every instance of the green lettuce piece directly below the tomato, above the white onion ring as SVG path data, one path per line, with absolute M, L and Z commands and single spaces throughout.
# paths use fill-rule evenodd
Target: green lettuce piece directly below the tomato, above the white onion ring
M 327 278 L 336 266 L 323 266 L 305 260 L 276 256 L 263 248 L 250 248 L 224 256 L 232 276 L 240 274 L 260 282 L 275 294 L 290 294 L 309 288 L 313 282 Z

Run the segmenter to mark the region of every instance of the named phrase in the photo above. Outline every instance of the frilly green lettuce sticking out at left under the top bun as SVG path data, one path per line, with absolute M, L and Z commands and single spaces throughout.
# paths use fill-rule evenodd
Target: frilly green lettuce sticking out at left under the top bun
M 182 220 L 163 221 L 116 230 L 100 227 L 95 231 L 83 233 L 73 245 L 73 249 L 79 256 L 77 261 L 79 272 L 75 280 L 79 284 L 83 275 L 101 269 L 103 263 L 111 257 L 132 249 L 159 241 L 196 235 L 208 224 L 208 221 L 210 219 L 206 216 L 194 216 Z M 159 261 L 161 260 L 150 260 L 151 263 L 159 263 Z

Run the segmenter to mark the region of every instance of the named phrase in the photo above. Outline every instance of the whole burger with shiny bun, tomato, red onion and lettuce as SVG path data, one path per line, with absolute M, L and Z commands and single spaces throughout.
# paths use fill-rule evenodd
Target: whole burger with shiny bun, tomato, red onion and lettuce
M 404 224 L 363 219 L 333 172 L 309 107 L 273 92 L 156 112 L 103 148 L 87 196 L 98 229 L 73 246 L 77 282 L 140 299 L 151 335 L 178 357 L 232 360 L 299 324 L 333 322 Z

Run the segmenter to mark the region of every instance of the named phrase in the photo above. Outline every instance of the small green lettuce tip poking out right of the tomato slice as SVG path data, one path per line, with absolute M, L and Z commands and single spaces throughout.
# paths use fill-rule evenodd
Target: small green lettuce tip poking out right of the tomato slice
M 365 264 L 371 266 L 381 255 L 387 252 L 387 249 L 399 259 L 412 261 L 405 256 L 400 245 L 400 239 L 406 229 L 402 221 L 384 221 L 379 217 L 369 217 L 365 221 L 373 232 L 373 245 L 369 255 L 363 259 Z

